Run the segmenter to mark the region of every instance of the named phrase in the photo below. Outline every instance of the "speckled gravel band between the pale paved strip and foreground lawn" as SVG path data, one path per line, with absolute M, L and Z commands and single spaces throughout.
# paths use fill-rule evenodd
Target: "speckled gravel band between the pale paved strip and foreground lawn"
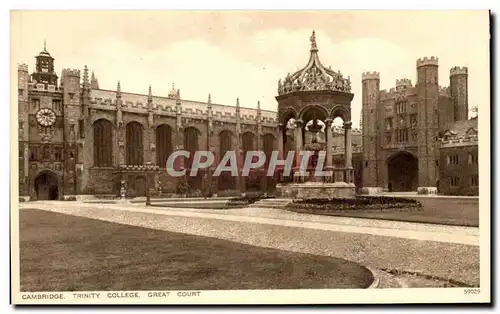
M 473 286 L 479 285 L 479 246 L 477 245 L 413 240 L 347 230 L 336 232 L 251 221 L 166 215 L 158 210 L 155 211 L 156 213 L 134 212 L 131 211 L 133 209 L 131 207 L 113 209 L 108 205 L 99 207 L 95 205 L 91 207 L 88 206 L 89 204 L 86 204 L 87 206 L 75 205 L 30 203 L 23 204 L 22 207 L 215 237 L 287 251 L 335 256 L 371 268 L 406 271 L 455 280 Z M 147 211 L 145 208 L 142 210 Z

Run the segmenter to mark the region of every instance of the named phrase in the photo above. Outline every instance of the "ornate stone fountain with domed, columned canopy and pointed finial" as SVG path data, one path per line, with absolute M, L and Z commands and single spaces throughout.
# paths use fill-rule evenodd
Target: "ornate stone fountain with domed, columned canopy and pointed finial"
M 290 181 L 285 178 L 287 174 L 280 174 L 277 194 L 305 199 L 354 198 L 356 187 L 351 144 L 351 101 L 354 94 L 351 93 L 350 78 L 344 78 L 340 71 L 335 72 L 321 64 L 314 31 L 310 52 L 309 62 L 303 69 L 278 82 L 278 149 L 284 156 L 285 128 L 288 121 L 294 119 L 295 167 L 289 174 L 293 176 L 293 183 L 285 183 Z M 343 168 L 332 165 L 332 122 L 335 118 L 344 121 L 346 149 Z M 311 154 L 308 162 L 302 162 L 301 151 Z M 319 170 L 330 171 L 331 175 L 315 175 L 322 154 L 325 154 L 325 163 Z M 301 175 L 304 171 L 309 175 Z

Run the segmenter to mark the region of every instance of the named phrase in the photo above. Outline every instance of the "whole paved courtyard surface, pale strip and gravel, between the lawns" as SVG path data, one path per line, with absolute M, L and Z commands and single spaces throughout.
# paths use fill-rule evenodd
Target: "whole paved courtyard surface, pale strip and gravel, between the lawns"
M 95 218 L 156 230 L 230 240 L 254 246 L 360 263 L 381 287 L 478 286 L 479 230 L 279 209 L 152 208 L 142 204 L 30 202 L 21 208 Z

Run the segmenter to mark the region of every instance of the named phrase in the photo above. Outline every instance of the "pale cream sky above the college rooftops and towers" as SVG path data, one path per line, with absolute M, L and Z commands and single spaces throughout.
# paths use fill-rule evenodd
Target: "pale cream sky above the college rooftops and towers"
M 323 65 L 352 82 L 359 126 L 361 74 L 378 71 L 381 89 L 416 81 L 416 60 L 439 58 L 439 83 L 467 66 L 469 107 L 489 108 L 487 11 L 13 11 L 11 61 L 43 50 L 56 71 L 95 72 L 100 88 L 276 110 L 277 82 L 307 64 L 316 31 Z

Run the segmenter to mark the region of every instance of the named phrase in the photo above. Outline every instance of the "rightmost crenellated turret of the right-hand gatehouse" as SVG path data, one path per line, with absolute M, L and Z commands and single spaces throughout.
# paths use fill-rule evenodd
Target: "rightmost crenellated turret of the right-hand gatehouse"
M 467 120 L 469 113 L 467 67 L 450 69 L 450 93 L 454 105 L 454 121 Z

